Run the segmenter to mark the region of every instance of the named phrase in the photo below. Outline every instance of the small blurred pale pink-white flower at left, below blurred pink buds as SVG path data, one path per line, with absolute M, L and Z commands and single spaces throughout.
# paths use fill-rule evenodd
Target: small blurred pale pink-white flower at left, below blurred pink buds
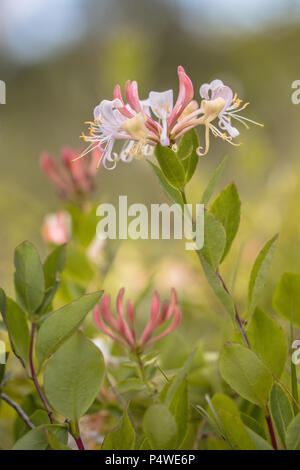
M 63 245 L 70 239 L 71 217 L 66 211 L 46 215 L 42 225 L 42 237 L 46 243 Z

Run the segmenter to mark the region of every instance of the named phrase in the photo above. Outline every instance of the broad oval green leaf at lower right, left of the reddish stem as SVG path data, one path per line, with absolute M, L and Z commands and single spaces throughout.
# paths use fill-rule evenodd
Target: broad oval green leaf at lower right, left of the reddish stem
M 253 351 L 241 344 L 226 344 L 220 356 L 220 372 L 243 398 L 261 407 L 267 404 L 273 377 Z

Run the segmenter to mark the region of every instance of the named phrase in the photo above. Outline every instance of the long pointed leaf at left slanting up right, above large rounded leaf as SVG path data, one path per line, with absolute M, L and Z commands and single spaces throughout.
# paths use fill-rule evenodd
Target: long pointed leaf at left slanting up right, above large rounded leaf
M 102 292 L 83 295 L 46 318 L 36 339 L 36 354 L 40 365 L 79 328 L 101 295 Z

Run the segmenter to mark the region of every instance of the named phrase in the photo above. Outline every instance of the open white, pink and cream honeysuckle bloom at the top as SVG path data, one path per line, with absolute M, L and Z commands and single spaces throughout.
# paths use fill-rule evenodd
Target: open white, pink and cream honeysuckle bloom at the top
M 182 66 L 178 67 L 179 93 L 174 104 L 173 90 L 151 91 L 146 100 L 140 100 L 136 81 L 125 85 L 126 103 L 121 89 L 116 85 L 113 100 L 103 100 L 94 110 L 89 135 L 82 135 L 91 149 L 101 152 L 98 166 L 114 169 L 117 161 L 130 162 L 133 158 L 151 155 L 157 144 L 173 146 L 183 134 L 198 125 L 205 126 L 205 145 L 199 147 L 199 155 L 209 151 L 210 132 L 233 144 L 239 131 L 232 126 L 235 119 L 248 128 L 247 122 L 258 124 L 240 115 L 248 103 L 233 94 L 221 80 L 213 80 L 200 87 L 200 104 L 195 101 L 193 84 Z M 217 121 L 217 125 L 213 124 Z M 258 124 L 260 125 L 260 124 Z M 119 153 L 114 151 L 116 141 L 122 141 Z

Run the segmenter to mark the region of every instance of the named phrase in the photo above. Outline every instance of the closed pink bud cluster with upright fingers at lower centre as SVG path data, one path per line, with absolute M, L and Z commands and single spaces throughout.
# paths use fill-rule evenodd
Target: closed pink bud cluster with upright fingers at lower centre
M 159 295 L 154 292 L 151 302 L 150 320 L 147 323 L 141 336 L 137 337 L 136 314 L 133 304 L 127 301 L 127 319 L 125 317 L 123 297 L 124 289 L 120 289 L 117 300 L 115 317 L 110 310 L 110 296 L 104 295 L 101 304 L 94 309 L 94 319 L 98 328 L 114 341 L 122 344 L 131 352 L 140 353 L 151 344 L 164 338 L 171 333 L 180 323 L 181 311 L 177 303 L 175 289 L 171 289 L 170 302 L 163 302 L 161 305 Z M 157 330 L 163 326 L 166 328 L 157 334 Z

